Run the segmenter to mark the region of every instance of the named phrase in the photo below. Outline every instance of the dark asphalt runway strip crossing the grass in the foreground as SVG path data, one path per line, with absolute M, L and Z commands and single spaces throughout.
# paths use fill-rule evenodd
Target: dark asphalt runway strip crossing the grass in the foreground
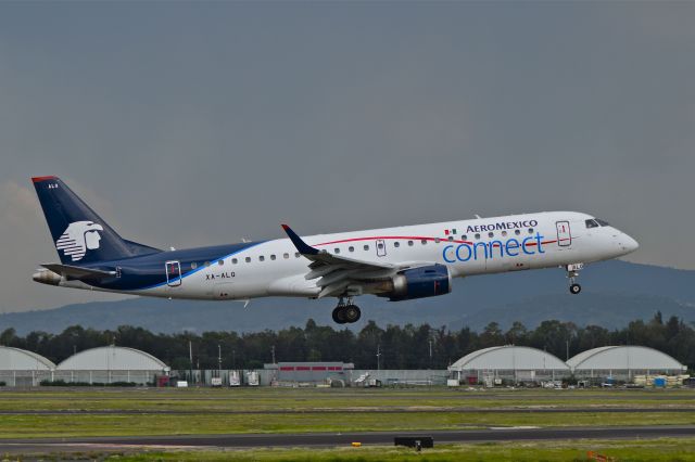
M 434 444 L 567 440 L 567 439 L 645 439 L 695 437 L 695 425 L 606 426 L 606 427 L 492 427 L 464 431 L 304 433 L 304 434 L 228 434 L 132 436 L 102 438 L 7 439 L 0 442 L 3 453 L 49 453 L 76 451 L 119 451 L 140 448 L 216 449 L 262 447 L 331 447 L 393 445 L 396 436 L 431 436 Z

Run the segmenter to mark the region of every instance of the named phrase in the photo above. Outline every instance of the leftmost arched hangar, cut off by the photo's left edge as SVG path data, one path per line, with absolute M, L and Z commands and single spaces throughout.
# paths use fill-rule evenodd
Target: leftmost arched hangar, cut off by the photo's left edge
M 0 346 L 0 382 L 5 386 L 37 386 L 50 380 L 55 364 L 31 351 Z

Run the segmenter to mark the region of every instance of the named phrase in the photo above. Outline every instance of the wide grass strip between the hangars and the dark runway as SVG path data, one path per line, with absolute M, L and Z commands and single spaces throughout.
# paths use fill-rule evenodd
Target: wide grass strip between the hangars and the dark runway
M 695 390 L 4 389 L 0 412 L 0 438 L 695 424 Z

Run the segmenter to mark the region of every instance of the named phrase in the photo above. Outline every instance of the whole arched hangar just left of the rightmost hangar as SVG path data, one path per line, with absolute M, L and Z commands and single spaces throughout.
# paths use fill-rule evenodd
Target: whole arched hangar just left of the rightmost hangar
M 505 345 L 480 349 L 448 367 L 451 384 L 540 383 L 570 375 L 570 368 L 549 352 L 525 346 Z

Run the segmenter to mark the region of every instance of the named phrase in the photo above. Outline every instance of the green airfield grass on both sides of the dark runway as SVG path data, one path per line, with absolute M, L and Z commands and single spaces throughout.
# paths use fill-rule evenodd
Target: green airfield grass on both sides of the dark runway
M 640 411 L 624 412 L 631 408 Z M 534 412 L 539 409 L 557 412 Z M 685 411 L 667 412 L 669 409 Z M 4 388 L 0 389 L 0 445 L 2 438 L 695 424 L 695 390 Z M 79 457 L 118 461 L 585 461 L 590 450 L 619 461 L 695 462 L 695 438 L 438 445 L 421 453 L 394 447 L 340 447 L 130 449 Z M 5 459 L 21 460 L 12 454 Z

